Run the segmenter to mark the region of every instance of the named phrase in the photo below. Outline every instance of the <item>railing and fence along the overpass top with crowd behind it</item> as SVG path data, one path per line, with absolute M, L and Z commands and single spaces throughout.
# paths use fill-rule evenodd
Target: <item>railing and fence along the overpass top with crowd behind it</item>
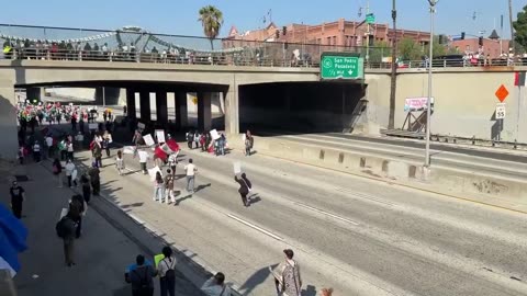
M 272 37 L 272 36 L 269 36 Z M 182 65 L 228 65 L 261 67 L 319 67 L 325 52 L 355 53 L 369 50 L 366 68 L 390 69 L 384 62 L 389 47 L 334 46 L 323 44 L 255 42 L 155 34 L 139 27 L 93 30 L 0 24 L 4 59 L 128 61 Z M 434 59 L 434 67 L 478 67 L 527 65 L 527 59 L 475 60 Z M 427 60 L 399 62 L 399 68 L 426 68 Z

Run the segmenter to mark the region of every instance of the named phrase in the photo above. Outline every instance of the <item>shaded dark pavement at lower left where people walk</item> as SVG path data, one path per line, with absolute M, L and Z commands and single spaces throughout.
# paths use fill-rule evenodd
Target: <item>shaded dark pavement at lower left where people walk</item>
M 138 225 L 130 225 L 130 228 L 136 229 L 128 229 L 128 225 L 126 229 L 117 229 L 99 214 L 98 209 L 104 206 L 104 202 L 94 197 L 93 205 L 82 221 L 82 237 L 76 241 L 77 265 L 67 267 L 64 264 L 63 242 L 55 232 L 55 224 L 74 192 L 66 186 L 57 187 L 57 180 L 51 173 L 51 163 L 46 161 L 18 167 L 16 174 L 29 177 L 27 182 L 19 181 L 26 192 L 22 221 L 29 229 L 29 249 L 20 257 L 22 270 L 14 278 L 19 296 L 132 295 L 130 284 L 124 282 L 124 270 L 135 262 L 137 254 L 150 258 L 153 251 L 141 244 L 139 239 L 144 238 L 126 234 L 137 230 L 143 231 L 145 237 L 148 234 L 138 229 Z M 0 202 L 7 205 L 10 200 L 9 186 L 10 182 L 2 178 L 0 192 L 3 194 L 0 195 Z M 115 215 L 125 214 L 112 213 L 111 218 L 121 218 Z M 154 282 L 157 295 L 159 281 L 155 278 Z M 179 271 L 176 287 L 176 295 L 202 295 Z

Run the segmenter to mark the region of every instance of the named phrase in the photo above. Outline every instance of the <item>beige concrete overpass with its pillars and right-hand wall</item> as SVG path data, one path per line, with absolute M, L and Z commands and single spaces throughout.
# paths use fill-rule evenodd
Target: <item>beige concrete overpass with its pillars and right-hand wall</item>
M 514 72 L 525 67 L 479 67 L 434 69 L 433 133 L 527 143 L 527 103 L 514 87 Z M 186 126 L 188 92 L 198 93 L 199 128 L 211 125 L 211 93 L 225 100 L 225 130 L 237 134 L 244 124 L 305 129 L 340 130 L 352 117 L 357 102 L 367 99 L 367 112 L 357 128 L 379 133 L 388 125 L 390 110 L 389 70 L 369 69 L 365 83 L 319 81 L 317 68 L 236 67 L 211 65 L 136 64 L 66 60 L 0 60 L 0 132 L 4 135 L 2 156 L 14 155 L 14 88 L 49 86 L 112 87 L 126 89 L 132 114 L 139 109 L 142 121 L 150 118 L 149 95 L 156 93 L 158 121 L 167 119 L 167 92 L 175 93 L 176 121 Z M 406 98 L 426 96 L 426 69 L 401 69 L 397 75 L 395 124 L 406 117 Z M 496 89 L 504 84 L 507 117 L 496 121 Z M 525 93 L 525 92 L 524 92 Z M 136 105 L 136 94 L 141 98 Z M 160 100 L 157 100 L 159 98 Z

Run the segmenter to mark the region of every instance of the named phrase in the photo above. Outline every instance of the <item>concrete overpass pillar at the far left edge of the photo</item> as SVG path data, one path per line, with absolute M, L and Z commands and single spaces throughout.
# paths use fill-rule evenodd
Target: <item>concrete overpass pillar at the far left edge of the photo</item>
M 15 160 L 19 149 L 15 104 L 13 84 L 0 80 L 0 158 L 7 160 Z

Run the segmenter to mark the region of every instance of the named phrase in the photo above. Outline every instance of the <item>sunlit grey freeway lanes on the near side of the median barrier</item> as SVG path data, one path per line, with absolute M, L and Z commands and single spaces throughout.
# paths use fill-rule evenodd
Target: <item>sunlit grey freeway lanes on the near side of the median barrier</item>
M 184 148 L 177 205 L 153 202 L 153 183 L 130 156 L 124 177 L 103 160 L 104 194 L 244 295 L 274 294 L 268 267 L 284 248 L 295 251 L 303 296 L 328 286 L 346 296 L 527 295 L 525 215 L 258 153 Z M 88 152 L 79 157 L 90 162 Z M 193 195 L 182 190 L 188 158 L 199 170 Z M 254 183 L 249 208 L 235 161 Z

